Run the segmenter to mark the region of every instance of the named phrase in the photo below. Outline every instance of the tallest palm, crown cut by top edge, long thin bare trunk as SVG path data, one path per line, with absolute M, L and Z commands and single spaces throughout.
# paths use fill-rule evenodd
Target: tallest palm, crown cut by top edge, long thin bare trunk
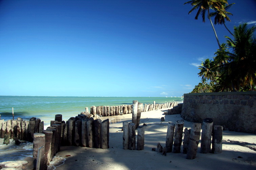
M 210 17 L 209 9 L 214 9 L 214 10 L 217 10 L 217 11 L 225 11 L 222 4 L 228 4 L 228 2 L 226 0 L 192 0 L 192 1 L 188 1 L 188 2 L 184 3 L 184 5 L 185 4 L 191 4 L 193 6 L 193 8 L 189 11 L 189 14 L 192 11 L 194 11 L 195 9 L 198 9 L 198 11 L 196 13 L 196 16 L 195 16 L 196 20 L 198 19 L 199 14 L 201 14 L 202 15 L 202 21 L 205 22 L 205 14 L 206 14 L 206 12 L 208 12 L 208 15 L 207 15 L 208 19 L 211 22 L 211 25 L 212 25 L 212 28 L 213 28 L 218 46 L 221 49 L 217 33 L 215 31 L 215 28 L 213 26 L 213 23 L 212 23 L 212 20 L 211 20 L 211 17 Z

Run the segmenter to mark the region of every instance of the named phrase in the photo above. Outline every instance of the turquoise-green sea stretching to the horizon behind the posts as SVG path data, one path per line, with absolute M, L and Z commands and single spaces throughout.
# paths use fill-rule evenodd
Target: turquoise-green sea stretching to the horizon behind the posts
M 183 102 L 183 97 L 59 97 L 59 96 L 0 96 L 1 119 L 21 117 L 29 120 L 40 118 L 45 124 L 54 120 L 56 114 L 62 114 L 63 120 L 75 117 L 91 106 L 119 106 L 132 104 L 133 100 L 152 104 L 166 102 Z

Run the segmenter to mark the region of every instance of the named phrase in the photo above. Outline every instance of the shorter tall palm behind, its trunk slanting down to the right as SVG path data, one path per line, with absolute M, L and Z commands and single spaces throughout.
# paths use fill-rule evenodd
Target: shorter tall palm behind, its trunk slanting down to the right
M 234 5 L 235 3 L 232 3 L 232 4 L 229 4 L 229 5 L 226 5 L 226 3 L 223 3 L 222 5 L 223 5 L 223 8 L 225 9 L 225 11 L 220 11 L 220 10 L 216 10 L 216 9 L 214 9 L 215 10 L 215 12 L 211 12 L 210 13 L 210 17 L 214 17 L 215 16 L 215 18 L 214 18 L 214 24 L 216 25 L 216 24 L 220 24 L 220 25 L 224 25 L 225 26 L 225 28 L 229 31 L 229 33 L 231 34 L 231 35 L 233 35 L 231 32 L 230 32 L 230 30 L 227 28 L 227 26 L 226 26 L 226 24 L 225 24 L 225 19 L 226 19 L 226 21 L 231 21 L 230 19 L 229 19 L 229 17 L 228 17 L 228 15 L 233 15 L 232 13 L 230 13 L 230 12 L 227 12 L 227 9 L 229 9 L 232 5 Z

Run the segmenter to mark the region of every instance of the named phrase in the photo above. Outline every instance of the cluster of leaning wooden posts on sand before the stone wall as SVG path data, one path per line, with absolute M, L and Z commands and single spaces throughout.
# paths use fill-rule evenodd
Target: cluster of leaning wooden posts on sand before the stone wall
M 157 145 L 157 151 L 180 153 L 182 144 L 184 120 L 168 122 L 166 144 L 163 150 L 161 145 Z M 195 159 L 199 144 L 200 130 L 202 129 L 200 153 L 221 153 L 222 152 L 222 131 L 220 125 L 213 125 L 211 118 L 206 118 L 202 123 L 193 123 L 191 129 L 185 128 L 183 139 L 183 153 L 187 154 L 187 159 Z M 212 140 L 211 140 L 212 139 Z M 212 148 L 211 148 L 212 144 Z

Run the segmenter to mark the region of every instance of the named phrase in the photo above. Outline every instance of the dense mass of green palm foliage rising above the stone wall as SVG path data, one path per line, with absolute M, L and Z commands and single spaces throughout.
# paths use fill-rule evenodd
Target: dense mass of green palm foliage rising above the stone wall
M 256 91 L 256 27 L 234 27 L 233 39 L 206 59 L 198 69 L 202 81 L 192 92 Z

